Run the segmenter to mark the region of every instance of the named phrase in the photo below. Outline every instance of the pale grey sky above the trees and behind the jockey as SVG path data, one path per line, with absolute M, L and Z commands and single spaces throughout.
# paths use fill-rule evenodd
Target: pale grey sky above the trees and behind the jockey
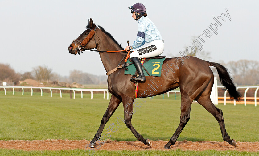
M 128 7 L 137 2 L 146 6 L 147 17 L 165 41 L 162 55 L 179 57 L 184 47 L 192 46 L 193 36 L 216 23 L 213 17 L 222 16 L 226 22 L 218 25 L 218 34 L 202 43 L 203 50 L 211 52 L 208 61 L 259 61 L 258 1 L 0 0 L 0 63 L 8 63 L 21 73 L 47 65 L 60 75 L 69 75 L 74 69 L 105 75 L 98 53 L 72 55 L 67 47 L 85 30 L 90 18 L 123 47 L 127 40 L 132 44 L 138 22 Z M 231 21 L 221 15 L 226 9 Z

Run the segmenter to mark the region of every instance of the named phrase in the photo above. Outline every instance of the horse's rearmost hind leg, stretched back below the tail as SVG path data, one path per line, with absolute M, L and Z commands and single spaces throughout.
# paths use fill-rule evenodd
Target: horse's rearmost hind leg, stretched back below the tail
M 220 125 L 223 140 L 227 141 L 230 145 L 237 147 L 236 141 L 234 139 L 231 140 L 228 133 L 226 132 L 223 112 L 212 103 L 210 99 L 210 92 L 206 96 L 197 97 L 195 100 L 216 118 Z

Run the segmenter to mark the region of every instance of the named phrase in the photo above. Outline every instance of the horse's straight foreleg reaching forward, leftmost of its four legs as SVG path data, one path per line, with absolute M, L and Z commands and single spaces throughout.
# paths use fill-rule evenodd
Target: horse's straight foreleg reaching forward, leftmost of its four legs
M 89 147 L 91 147 L 91 148 L 96 147 L 96 143 L 95 142 L 97 141 L 98 137 L 101 136 L 105 124 L 109 121 L 110 117 L 113 115 L 114 111 L 117 109 L 117 107 L 119 106 L 120 103 L 121 103 L 121 99 L 118 99 L 114 95 L 111 96 L 108 108 L 107 108 L 107 110 L 105 111 L 105 113 L 104 113 L 104 115 L 102 117 L 100 127 L 97 130 L 94 138 L 90 142 Z

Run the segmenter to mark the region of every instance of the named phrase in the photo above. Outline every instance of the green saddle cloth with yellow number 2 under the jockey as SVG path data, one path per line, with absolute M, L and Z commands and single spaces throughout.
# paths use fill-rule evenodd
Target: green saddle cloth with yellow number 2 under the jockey
M 162 65 L 163 62 L 166 58 L 162 58 L 162 59 L 150 59 L 149 61 L 145 62 L 143 64 L 143 66 L 146 68 L 146 70 L 148 71 L 148 73 L 150 74 L 150 76 L 161 76 L 161 69 L 162 69 Z M 127 60 L 127 63 L 131 63 L 130 60 Z M 130 75 L 134 75 L 136 72 L 136 68 L 135 66 L 132 64 L 130 66 L 127 67 L 129 70 L 128 71 L 124 71 L 124 74 L 130 74 Z M 142 68 L 143 69 L 143 68 Z M 146 72 L 146 70 L 143 69 L 144 75 L 145 76 L 149 76 Z

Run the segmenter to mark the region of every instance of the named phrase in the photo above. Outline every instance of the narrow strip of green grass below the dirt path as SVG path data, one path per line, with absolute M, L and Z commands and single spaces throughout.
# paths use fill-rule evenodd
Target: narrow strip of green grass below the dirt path
M 88 154 L 84 150 L 59 150 L 59 151 L 23 151 L 23 150 L 6 150 L 0 149 L 1 155 L 15 155 L 15 156 L 87 156 Z M 93 156 L 258 156 L 258 152 L 237 152 L 237 151 L 182 151 L 182 150 L 148 150 L 148 151 L 95 151 Z

